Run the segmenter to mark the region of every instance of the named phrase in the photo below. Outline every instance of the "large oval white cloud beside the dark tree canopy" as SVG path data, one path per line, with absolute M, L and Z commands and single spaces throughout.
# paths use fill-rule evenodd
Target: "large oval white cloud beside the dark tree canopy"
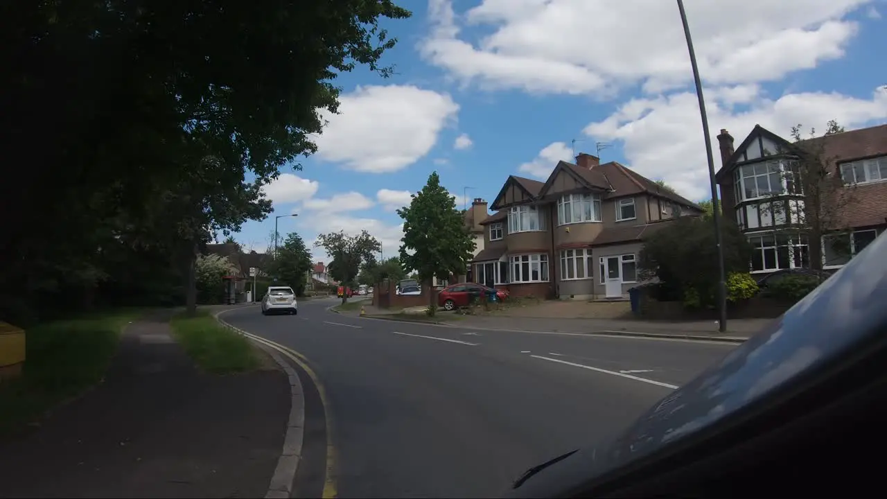
M 317 156 L 369 173 L 403 170 L 428 154 L 459 111 L 449 95 L 412 85 L 359 86 L 339 100 L 339 114 L 324 115 Z

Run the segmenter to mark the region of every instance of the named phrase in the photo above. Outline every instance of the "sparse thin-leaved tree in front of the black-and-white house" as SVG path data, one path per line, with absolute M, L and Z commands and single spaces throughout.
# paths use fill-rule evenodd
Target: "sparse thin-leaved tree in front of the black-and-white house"
M 788 147 L 765 151 L 768 155 L 779 155 L 786 160 L 788 168 L 781 175 L 788 190 L 771 194 L 772 201 L 762 204 L 761 209 L 773 217 L 781 215 L 787 220 L 803 222 L 810 266 L 816 270 L 822 270 L 822 236 L 846 228 L 842 215 L 844 208 L 854 199 L 854 186 L 844 184 L 836 158 L 829 156 L 826 150 L 828 136 L 843 131 L 843 126 L 831 120 L 823 135 L 817 136 L 816 130 L 811 129 L 809 135 L 804 137 L 798 124 L 791 129 L 792 143 Z M 803 201 L 789 202 L 788 198 Z M 791 230 L 797 234 L 798 227 Z M 827 242 L 836 253 L 849 255 L 849 236 L 827 238 Z

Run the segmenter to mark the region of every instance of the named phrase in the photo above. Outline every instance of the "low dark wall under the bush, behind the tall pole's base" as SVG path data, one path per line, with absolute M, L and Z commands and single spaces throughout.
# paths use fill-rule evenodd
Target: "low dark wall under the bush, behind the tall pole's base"
M 682 302 L 661 302 L 641 294 L 638 315 L 663 321 L 703 321 L 718 319 L 717 310 L 688 310 Z M 727 302 L 728 319 L 770 319 L 779 317 L 794 304 L 773 298 L 754 297 L 740 304 Z

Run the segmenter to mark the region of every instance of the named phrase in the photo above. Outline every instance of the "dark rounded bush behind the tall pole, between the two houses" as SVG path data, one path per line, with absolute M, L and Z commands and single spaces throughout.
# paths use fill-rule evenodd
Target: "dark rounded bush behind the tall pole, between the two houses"
M 721 227 L 726 273 L 749 273 L 751 249 L 735 223 Z M 718 289 L 718 246 L 711 223 L 703 217 L 681 217 L 647 236 L 640 250 L 640 276 L 657 277 L 664 295 L 698 293 L 700 305 L 713 305 Z

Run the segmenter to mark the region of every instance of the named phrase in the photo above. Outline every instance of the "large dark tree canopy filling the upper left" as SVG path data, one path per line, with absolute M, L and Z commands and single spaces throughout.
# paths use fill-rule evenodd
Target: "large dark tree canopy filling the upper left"
M 0 6 L 0 313 L 90 289 L 103 251 L 190 262 L 271 210 L 262 186 L 312 154 L 334 80 L 381 75 L 390 0 L 12 2 Z M 133 265 L 138 265 L 137 261 Z M 6 298 L 11 298 L 7 300 Z M 19 306 L 19 305 L 15 305 Z M 13 307 L 14 308 L 14 307 Z

